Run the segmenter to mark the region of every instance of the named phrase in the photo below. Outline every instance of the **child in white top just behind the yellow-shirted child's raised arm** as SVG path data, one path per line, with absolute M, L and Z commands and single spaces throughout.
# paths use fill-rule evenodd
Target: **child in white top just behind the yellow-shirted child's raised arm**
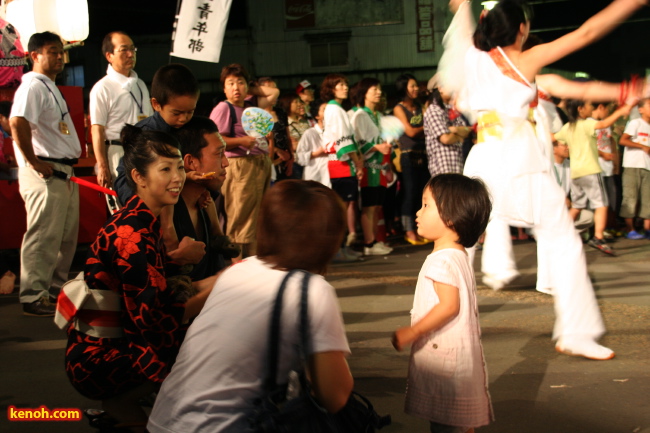
M 606 119 L 613 111 L 613 104 L 607 102 L 594 102 L 594 112 L 591 117 L 596 120 Z M 598 163 L 603 170 L 603 182 L 609 201 L 609 209 L 616 215 L 618 213 L 619 190 L 614 175 L 618 172 L 619 156 L 616 140 L 612 135 L 612 127 L 596 130 L 596 144 L 598 145 Z M 613 227 L 610 227 L 613 228 Z M 608 237 L 605 231 L 605 237 Z M 611 235 L 611 233 L 609 233 Z

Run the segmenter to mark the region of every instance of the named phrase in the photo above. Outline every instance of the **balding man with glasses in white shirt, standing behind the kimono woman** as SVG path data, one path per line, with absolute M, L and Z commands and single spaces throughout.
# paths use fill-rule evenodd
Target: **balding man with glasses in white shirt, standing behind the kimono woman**
M 122 32 L 104 37 L 102 52 L 108 61 L 106 76 L 90 91 L 90 124 L 93 149 L 97 159 L 97 183 L 111 188 L 117 177 L 117 165 L 124 155 L 120 131 L 126 124 L 135 125 L 153 114 L 149 91 L 138 78 L 135 67 L 137 48 Z M 111 212 L 116 207 L 111 204 Z

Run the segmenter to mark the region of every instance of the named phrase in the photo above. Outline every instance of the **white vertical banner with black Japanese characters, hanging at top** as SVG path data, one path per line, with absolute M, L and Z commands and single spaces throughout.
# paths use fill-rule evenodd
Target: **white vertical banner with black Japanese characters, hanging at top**
M 232 0 L 183 0 L 176 16 L 171 55 L 219 62 Z

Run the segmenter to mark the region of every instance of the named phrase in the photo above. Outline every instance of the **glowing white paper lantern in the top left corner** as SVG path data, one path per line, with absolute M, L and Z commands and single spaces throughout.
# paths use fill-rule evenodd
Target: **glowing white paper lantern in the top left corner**
M 14 0 L 7 5 L 7 21 L 18 29 L 27 46 L 34 33 L 50 31 L 66 41 L 88 37 L 87 0 Z

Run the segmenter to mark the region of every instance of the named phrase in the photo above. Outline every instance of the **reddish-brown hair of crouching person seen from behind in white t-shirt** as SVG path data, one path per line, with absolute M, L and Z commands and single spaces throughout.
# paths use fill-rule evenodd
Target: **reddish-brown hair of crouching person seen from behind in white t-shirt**
M 339 196 L 319 182 L 283 180 L 262 199 L 257 255 L 279 269 L 323 274 L 346 226 Z

